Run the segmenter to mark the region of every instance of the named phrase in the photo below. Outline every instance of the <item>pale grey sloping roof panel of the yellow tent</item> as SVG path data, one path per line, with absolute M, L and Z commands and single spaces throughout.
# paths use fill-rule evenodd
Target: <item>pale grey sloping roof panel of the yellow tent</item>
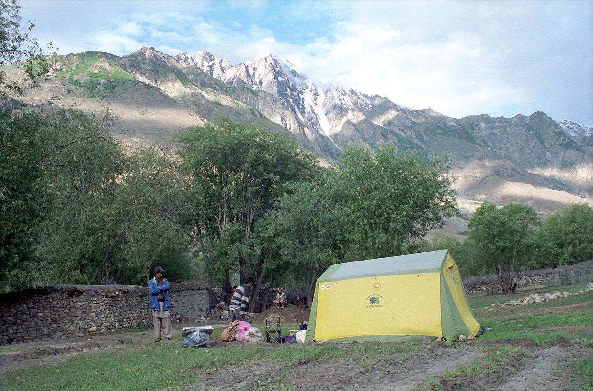
M 317 278 L 317 283 L 372 275 L 438 272 L 441 270 L 445 257 L 447 257 L 447 250 L 438 250 L 331 265 L 325 273 Z

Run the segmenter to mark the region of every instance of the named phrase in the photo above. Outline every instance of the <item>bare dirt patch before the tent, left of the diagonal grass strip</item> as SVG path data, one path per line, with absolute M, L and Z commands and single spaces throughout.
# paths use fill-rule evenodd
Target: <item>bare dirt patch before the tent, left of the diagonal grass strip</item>
M 266 390 L 415 390 L 433 377 L 468 366 L 484 353 L 466 348 L 432 347 L 412 355 L 398 355 L 390 361 L 361 364 L 342 359 L 310 360 L 294 367 L 280 367 L 274 361 L 225 368 L 215 376 L 203 377 L 186 387 L 187 391 L 235 389 Z

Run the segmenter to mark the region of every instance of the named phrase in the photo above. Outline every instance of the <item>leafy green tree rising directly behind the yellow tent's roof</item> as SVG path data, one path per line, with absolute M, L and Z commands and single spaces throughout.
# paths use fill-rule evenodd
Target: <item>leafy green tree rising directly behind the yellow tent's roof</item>
M 446 158 L 400 154 L 393 146 L 375 154 L 346 150 L 330 188 L 335 209 L 348 222 L 354 257 L 401 255 L 405 243 L 457 213 L 449 171 Z

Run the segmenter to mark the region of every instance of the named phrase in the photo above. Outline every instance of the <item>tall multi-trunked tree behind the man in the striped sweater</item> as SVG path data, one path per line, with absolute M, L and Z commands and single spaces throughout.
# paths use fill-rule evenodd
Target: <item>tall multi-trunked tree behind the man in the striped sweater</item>
M 255 223 L 273 208 L 286 183 L 309 175 L 313 156 L 288 137 L 231 120 L 191 127 L 177 140 L 184 175 L 199 193 L 193 206 L 199 213 L 190 225 L 207 270 L 224 267 L 223 288 L 232 271 L 241 282 L 259 274 L 263 255 L 253 241 Z

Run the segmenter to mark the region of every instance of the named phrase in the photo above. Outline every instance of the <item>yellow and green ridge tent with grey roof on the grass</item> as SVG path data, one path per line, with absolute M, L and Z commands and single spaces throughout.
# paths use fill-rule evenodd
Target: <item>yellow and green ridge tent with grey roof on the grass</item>
M 317 278 L 307 340 L 457 339 L 483 328 L 447 250 L 331 265 Z

